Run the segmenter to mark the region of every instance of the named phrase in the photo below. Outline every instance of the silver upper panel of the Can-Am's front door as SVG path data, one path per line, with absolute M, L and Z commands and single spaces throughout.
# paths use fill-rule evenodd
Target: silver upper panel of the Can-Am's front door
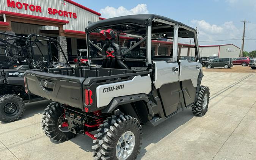
M 202 64 L 198 62 L 188 62 L 187 60 L 180 60 L 181 68 L 179 71 L 179 81 L 190 80 L 193 86 L 197 86 L 197 78 L 200 70 L 202 69 Z M 196 67 L 199 66 L 199 69 Z

